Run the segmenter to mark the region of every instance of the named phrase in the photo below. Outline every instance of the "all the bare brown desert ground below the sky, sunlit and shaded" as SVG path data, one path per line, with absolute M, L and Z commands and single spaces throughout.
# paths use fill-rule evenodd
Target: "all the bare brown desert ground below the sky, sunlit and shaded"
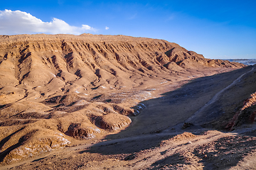
M 254 169 L 256 66 L 124 35 L 1 35 L 0 169 Z

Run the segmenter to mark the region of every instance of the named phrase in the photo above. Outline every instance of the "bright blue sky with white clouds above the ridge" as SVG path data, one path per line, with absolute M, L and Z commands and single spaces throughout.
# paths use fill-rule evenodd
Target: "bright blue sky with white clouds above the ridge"
M 207 58 L 256 59 L 256 1 L 1 1 L 0 34 L 158 38 Z

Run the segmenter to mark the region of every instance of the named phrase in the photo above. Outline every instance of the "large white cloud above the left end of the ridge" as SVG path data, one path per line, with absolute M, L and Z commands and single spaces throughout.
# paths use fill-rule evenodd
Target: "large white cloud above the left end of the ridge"
M 14 35 L 24 33 L 50 33 L 50 34 L 74 34 L 80 35 L 85 32 L 95 32 L 96 29 L 87 25 L 82 27 L 70 26 L 65 21 L 53 18 L 50 22 L 43 22 L 41 19 L 23 11 L 0 11 L 0 34 Z

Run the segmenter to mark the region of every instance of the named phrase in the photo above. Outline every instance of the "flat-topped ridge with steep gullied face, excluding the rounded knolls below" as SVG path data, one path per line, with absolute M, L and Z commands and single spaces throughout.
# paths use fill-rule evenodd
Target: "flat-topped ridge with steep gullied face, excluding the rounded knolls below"
M 163 74 L 164 78 L 170 74 L 172 62 L 182 68 L 242 67 L 205 59 L 165 40 L 122 35 L 13 35 L 0 38 L 0 45 L 0 87 L 26 86 L 40 94 L 46 94 L 50 84 L 55 86 L 50 89 L 53 93 L 70 82 L 92 84 L 91 88 L 106 81 L 108 86 L 127 86 L 127 81 L 138 86 L 134 75 Z

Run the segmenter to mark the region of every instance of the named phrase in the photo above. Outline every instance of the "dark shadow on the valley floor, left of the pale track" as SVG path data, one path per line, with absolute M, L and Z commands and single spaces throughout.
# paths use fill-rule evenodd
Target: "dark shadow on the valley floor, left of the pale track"
M 107 135 L 105 137 L 106 142 L 97 143 L 80 153 L 129 154 L 124 160 L 131 160 L 136 157 L 136 152 L 159 147 L 162 140 L 167 140 L 175 134 L 187 131 L 187 129 L 176 129 L 163 132 L 164 130 L 171 130 L 174 125 L 183 123 L 193 113 L 198 111 L 201 106 L 204 106 L 210 98 L 213 98 L 218 91 L 224 89 L 241 74 L 248 72 L 250 69 L 250 67 L 245 67 L 233 72 L 194 79 L 188 84 L 181 86 L 181 88 L 162 94 L 160 98 L 143 101 L 142 103 L 146 108 L 139 115 L 130 117 L 132 124 L 127 129 L 117 134 Z M 243 145 L 242 142 L 240 145 Z M 216 144 L 216 152 L 223 152 L 220 147 Z M 195 154 L 198 157 L 204 156 L 196 153 L 196 151 Z M 220 157 L 224 156 L 217 156 L 214 160 L 218 161 Z M 169 162 L 169 159 L 171 162 L 174 161 L 171 157 L 166 157 L 151 166 L 156 167 L 157 165 L 159 167 L 159 164 L 166 164 L 166 162 Z M 208 168 L 210 168 L 210 165 Z

